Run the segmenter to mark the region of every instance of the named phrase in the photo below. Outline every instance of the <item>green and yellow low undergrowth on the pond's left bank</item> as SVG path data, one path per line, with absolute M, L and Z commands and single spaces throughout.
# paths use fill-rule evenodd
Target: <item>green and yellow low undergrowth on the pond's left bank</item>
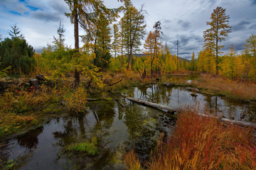
M 39 89 L 11 86 L 0 97 L 0 137 L 38 123 L 63 108 L 72 113 L 85 111 L 87 91 L 69 84 L 41 85 Z

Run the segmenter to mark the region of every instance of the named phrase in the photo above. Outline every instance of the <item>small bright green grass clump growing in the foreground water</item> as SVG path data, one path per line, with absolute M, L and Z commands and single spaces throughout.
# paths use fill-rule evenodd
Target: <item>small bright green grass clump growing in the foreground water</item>
M 66 152 L 84 152 L 90 156 L 95 156 L 100 153 L 97 148 L 97 137 L 92 137 L 91 142 L 85 141 L 73 145 L 69 145 Z

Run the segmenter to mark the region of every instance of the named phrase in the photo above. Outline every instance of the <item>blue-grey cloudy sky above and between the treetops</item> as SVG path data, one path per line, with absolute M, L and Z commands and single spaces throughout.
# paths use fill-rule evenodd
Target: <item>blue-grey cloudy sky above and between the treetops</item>
M 230 45 L 242 50 L 245 40 L 256 34 L 256 0 L 132 0 L 135 7 L 144 4 L 147 11 L 146 31 L 153 30 L 156 21 L 161 21 L 162 40 L 176 54 L 176 40 L 180 42 L 181 57 L 191 58 L 203 48 L 203 31 L 208 28 L 210 13 L 217 6 L 226 8 L 230 16 L 232 33 L 223 42 L 227 51 Z M 105 0 L 108 8 L 117 8 L 122 3 Z M 21 28 L 27 42 L 36 50 L 53 41 L 57 35 L 59 21 L 64 23 L 66 44 L 73 47 L 73 25 L 64 15 L 69 12 L 63 0 L 0 0 L 0 34 L 9 37 L 9 29 L 14 23 Z M 84 34 L 81 30 L 80 35 Z M 145 37 L 146 38 L 146 37 Z

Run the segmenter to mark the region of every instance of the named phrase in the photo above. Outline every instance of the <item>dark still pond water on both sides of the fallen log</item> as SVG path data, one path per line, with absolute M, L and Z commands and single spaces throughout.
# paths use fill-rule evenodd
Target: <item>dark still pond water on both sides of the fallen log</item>
M 238 103 L 196 93 L 191 96 L 191 90 L 196 91 L 152 84 L 126 89 L 122 94 L 172 108 L 199 102 L 201 110 L 209 108 L 230 119 L 255 120 L 255 103 Z M 173 130 L 174 118 L 121 96 L 112 98 L 89 102 L 85 114 L 54 118 L 40 128 L 0 144 L 1 162 L 12 159 L 16 169 L 124 169 L 123 153 L 130 149 L 135 149 L 140 159 L 147 159 L 157 137 Z M 100 143 L 99 156 L 65 152 L 68 145 L 95 136 Z

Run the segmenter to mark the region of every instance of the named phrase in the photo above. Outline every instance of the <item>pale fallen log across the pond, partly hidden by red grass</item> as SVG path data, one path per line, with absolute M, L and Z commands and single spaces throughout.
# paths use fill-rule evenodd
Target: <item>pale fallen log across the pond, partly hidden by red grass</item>
M 157 109 L 160 109 L 160 110 L 166 110 L 167 112 L 171 112 L 171 113 L 174 113 L 174 112 L 177 111 L 175 108 L 171 108 L 169 106 L 164 106 L 164 105 L 157 104 L 157 103 L 151 103 L 149 101 L 144 101 L 144 100 L 139 99 L 139 98 L 131 98 L 131 97 L 124 97 L 124 98 L 127 98 L 129 101 L 133 101 L 133 102 L 136 102 L 136 103 L 141 103 L 142 105 L 151 106 L 152 108 L 157 108 Z M 212 118 L 218 118 L 218 120 L 220 120 L 220 121 L 230 123 L 230 124 L 233 124 L 233 125 L 240 125 L 240 126 L 245 126 L 245 127 L 248 127 L 248 128 L 256 129 L 256 123 L 243 122 L 243 121 L 240 121 L 240 120 L 230 120 L 230 119 L 227 119 L 227 118 L 221 118 L 221 117 L 213 116 L 213 115 L 206 115 L 206 114 L 203 114 L 203 113 L 198 113 L 198 115 L 201 115 L 201 116 L 204 116 L 204 117 L 209 117 L 210 116 Z

